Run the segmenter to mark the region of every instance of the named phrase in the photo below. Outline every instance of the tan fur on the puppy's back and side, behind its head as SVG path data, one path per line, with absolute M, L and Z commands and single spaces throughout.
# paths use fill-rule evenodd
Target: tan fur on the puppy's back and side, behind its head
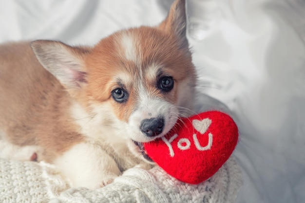
M 38 145 L 52 159 L 82 141 L 67 113 L 71 99 L 38 63 L 29 43 L 0 46 L 0 129 L 15 145 Z

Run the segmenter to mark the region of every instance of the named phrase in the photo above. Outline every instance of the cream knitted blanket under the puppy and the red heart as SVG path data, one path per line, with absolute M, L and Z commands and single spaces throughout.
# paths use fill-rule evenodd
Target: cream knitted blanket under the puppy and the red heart
M 0 203 L 233 203 L 242 184 L 234 158 L 199 185 L 177 181 L 159 167 L 131 168 L 114 183 L 70 188 L 54 166 L 0 159 Z

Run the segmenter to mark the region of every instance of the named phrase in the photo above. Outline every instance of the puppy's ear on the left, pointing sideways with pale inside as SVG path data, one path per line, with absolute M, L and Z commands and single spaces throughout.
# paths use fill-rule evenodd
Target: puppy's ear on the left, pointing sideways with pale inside
M 71 47 L 59 41 L 36 40 L 31 47 L 41 65 L 67 89 L 87 83 L 83 56 L 86 49 Z

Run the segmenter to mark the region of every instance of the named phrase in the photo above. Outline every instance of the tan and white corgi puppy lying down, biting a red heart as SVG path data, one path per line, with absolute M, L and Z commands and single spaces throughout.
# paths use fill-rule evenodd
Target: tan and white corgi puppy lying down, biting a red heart
M 196 84 L 185 0 L 155 27 L 94 47 L 37 40 L 0 46 L 0 157 L 54 164 L 71 186 L 97 188 L 150 168 L 142 143 L 190 116 Z

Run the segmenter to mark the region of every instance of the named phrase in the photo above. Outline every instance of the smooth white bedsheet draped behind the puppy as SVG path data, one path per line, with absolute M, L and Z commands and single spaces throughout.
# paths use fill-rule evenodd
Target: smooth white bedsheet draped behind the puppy
M 2 0 L 0 42 L 94 44 L 118 29 L 159 23 L 171 2 Z M 199 90 L 227 105 L 240 129 L 237 202 L 305 203 L 305 1 L 212 3 L 218 13 L 207 12 L 207 35 L 190 44 Z

